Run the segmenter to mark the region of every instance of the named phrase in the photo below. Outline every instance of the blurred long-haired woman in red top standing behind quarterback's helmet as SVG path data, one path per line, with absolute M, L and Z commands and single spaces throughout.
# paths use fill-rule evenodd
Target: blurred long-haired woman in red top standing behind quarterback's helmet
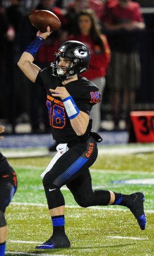
M 101 98 L 105 87 L 105 76 L 110 61 L 110 48 L 105 35 L 101 35 L 95 20 L 95 13 L 91 9 L 83 10 L 78 14 L 74 35 L 71 40 L 84 43 L 91 54 L 89 69 L 81 76 L 95 83 Z M 101 126 L 101 102 L 93 106 L 90 111 L 92 129 L 99 131 Z

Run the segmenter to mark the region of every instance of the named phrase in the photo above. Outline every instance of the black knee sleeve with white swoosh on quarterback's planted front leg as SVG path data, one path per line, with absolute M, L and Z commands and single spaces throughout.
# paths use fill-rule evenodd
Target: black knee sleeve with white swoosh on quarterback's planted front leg
M 64 196 L 56 185 L 44 185 L 49 210 L 65 205 Z

